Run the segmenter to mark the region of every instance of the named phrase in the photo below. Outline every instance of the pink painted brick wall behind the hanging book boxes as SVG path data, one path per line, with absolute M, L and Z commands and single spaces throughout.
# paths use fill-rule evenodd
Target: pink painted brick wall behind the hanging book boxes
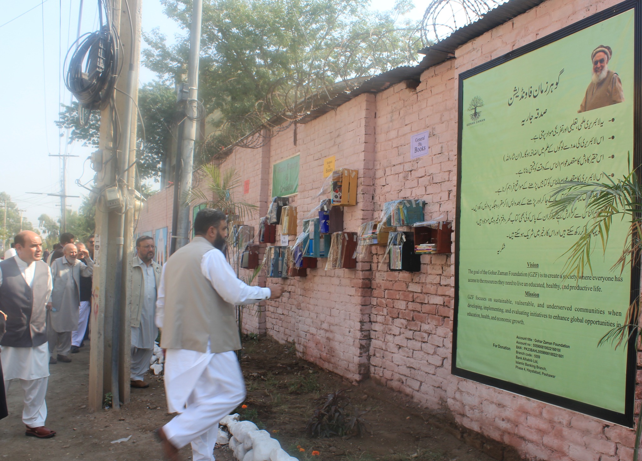
M 356 232 L 362 222 L 379 217 L 384 202 L 404 198 L 425 200 L 426 220 L 454 222 L 458 74 L 616 3 L 548 0 L 471 40 L 454 59 L 424 71 L 416 89 L 398 83 L 379 94 L 362 94 L 306 125 L 289 126 L 261 148 L 236 148 L 221 168 L 239 171 L 237 197 L 259 207 L 246 223 L 257 227 L 259 216 L 266 214 L 272 165 L 297 153 L 299 193 L 290 202 L 298 207 L 298 232 L 320 201 L 322 165 L 331 155 L 336 168 L 359 171 L 358 204 L 345 207 L 345 230 Z M 430 153 L 412 160 L 410 135 L 424 130 L 429 130 Z M 250 192 L 243 195 L 246 179 Z M 171 222 L 171 187 L 150 198 L 139 232 L 166 222 Z M 389 272 L 385 248 L 371 248 L 353 270 L 326 271 L 326 260 L 320 259 L 308 277 L 259 277 L 261 285 L 284 283 L 288 293 L 263 303 L 257 314 L 247 309 L 245 330 L 293 342 L 300 356 L 345 378 L 371 378 L 403 392 L 467 430 L 515 448 L 522 457 L 632 459 L 634 433 L 629 428 L 453 376 L 454 256 L 423 255 L 421 272 Z

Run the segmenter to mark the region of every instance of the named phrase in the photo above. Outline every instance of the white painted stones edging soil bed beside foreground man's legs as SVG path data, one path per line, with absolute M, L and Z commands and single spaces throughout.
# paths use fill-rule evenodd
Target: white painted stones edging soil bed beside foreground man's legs
M 219 424 L 232 434 L 229 446 L 238 461 L 299 461 L 288 455 L 268 431 L 259 430 L 252 421 L 239 421 L 238 413 L 227 415 Z M 219 437 L 222 432 L 219 429 Z

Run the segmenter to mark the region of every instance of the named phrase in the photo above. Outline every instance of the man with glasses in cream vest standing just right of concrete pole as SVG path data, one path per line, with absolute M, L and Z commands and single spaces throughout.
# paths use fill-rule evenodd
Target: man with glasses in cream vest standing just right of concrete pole
M 132 261 L 132 367 L 130 384 L 133 388 L 150 387 L 144 375 L 150 369 L 154 340 L 158 328 L 154 323 L 156 295 L 160 286 L 160 265 L 154 261 L 154 239 L 142 236 L 136 240 Z

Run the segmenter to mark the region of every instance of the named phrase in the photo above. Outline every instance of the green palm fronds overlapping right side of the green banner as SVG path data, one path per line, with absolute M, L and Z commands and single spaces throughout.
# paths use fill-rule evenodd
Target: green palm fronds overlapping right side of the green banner
M 564 265 L 566 277 L 575 275 L 577 283 L 584 275 L 586 266 L 592 272 L 591 254 L 598 243 L 601 244 L 602 253 L 606 253 L 612 223 L 618 218 L 622 222 L 629 223 L 629 229 L 622 252 L 611 269 L 619 268 L 621 275 L 627 266 L 639 263 L 642 250 L 642 183 L 638 168 L 630 169 L 630 152 L 628 175 L 619 179 L 612 179 L 606 174 L 604 177 L 607 179 L 604 182 L 560 182 L 559 187 L 553 190 L 550 197 L 548 206 L 552 209 L 551 218 L 560 217 L 565 213 L 575 214 L 576 207 L 582 204 L 591 217 L 584 225 L 577 241 L 562 255 L 567 257 Z M 598 341 L 598 346 L 611 344 L 617 349 L 620 345 L 629 343 L 634 336 L 636 337 L 634 343 L 637 345 L 640 335 L 639 315 L 638 295 L 627 309 L 625 324 L 607 331 Z M 641 439 L 642 412 L 638 415 L 633 461 L 638 461 Z

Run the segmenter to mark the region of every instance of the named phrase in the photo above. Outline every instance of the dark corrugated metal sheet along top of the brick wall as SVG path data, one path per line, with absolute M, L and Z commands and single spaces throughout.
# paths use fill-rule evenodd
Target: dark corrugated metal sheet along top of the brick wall
M 306 116 L 297 120 L 297 123 L 313 121 L 323 114 L 356 98 L 360 94 L 378 93 L 388 89 L 392 85 L 404 82 L 404 80 L 419 80 L 421 73 L 429 67 L 453 58 L 455 56 L 455 50 L 463 44 L 476 39 L 497 26 L 501 26 L 501 24 L 527 12 L 531 8 L 535 8 L 535 6 L 544 1 L 546 0 L 508 0 L 506 3 L 490 10 L 477 21 L 455 30 L 451 35 L 446 37 L 446 39 L 419 50 L 419 53 L 425 55 L 419 64 L 415 66 L 402 65 L 401 67 L 390 69 L 390 71 L 377 74 L 361 83 L 361 85 L 354 90 L 338 94 L 324 105 L 311 110 Z

